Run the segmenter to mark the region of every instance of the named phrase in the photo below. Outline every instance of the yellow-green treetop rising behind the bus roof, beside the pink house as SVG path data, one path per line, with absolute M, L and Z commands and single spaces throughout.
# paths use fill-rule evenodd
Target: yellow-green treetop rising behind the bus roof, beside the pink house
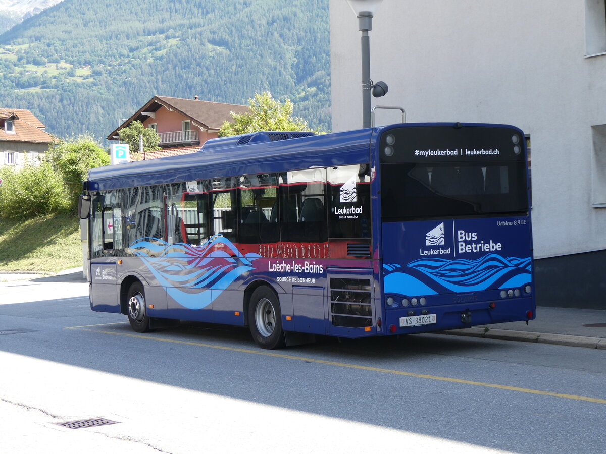
M 238 134 L 256 133 L 258 131 L 310 131 L 307 122 L 293 118 L 293 103 L 286 99 L 284 103 L 271 97 L 264 91 L 248 99 L 248 112 L 231 113 L 233 122 L 224 122 L 219 129 L 219 137 L 237 136 Z

